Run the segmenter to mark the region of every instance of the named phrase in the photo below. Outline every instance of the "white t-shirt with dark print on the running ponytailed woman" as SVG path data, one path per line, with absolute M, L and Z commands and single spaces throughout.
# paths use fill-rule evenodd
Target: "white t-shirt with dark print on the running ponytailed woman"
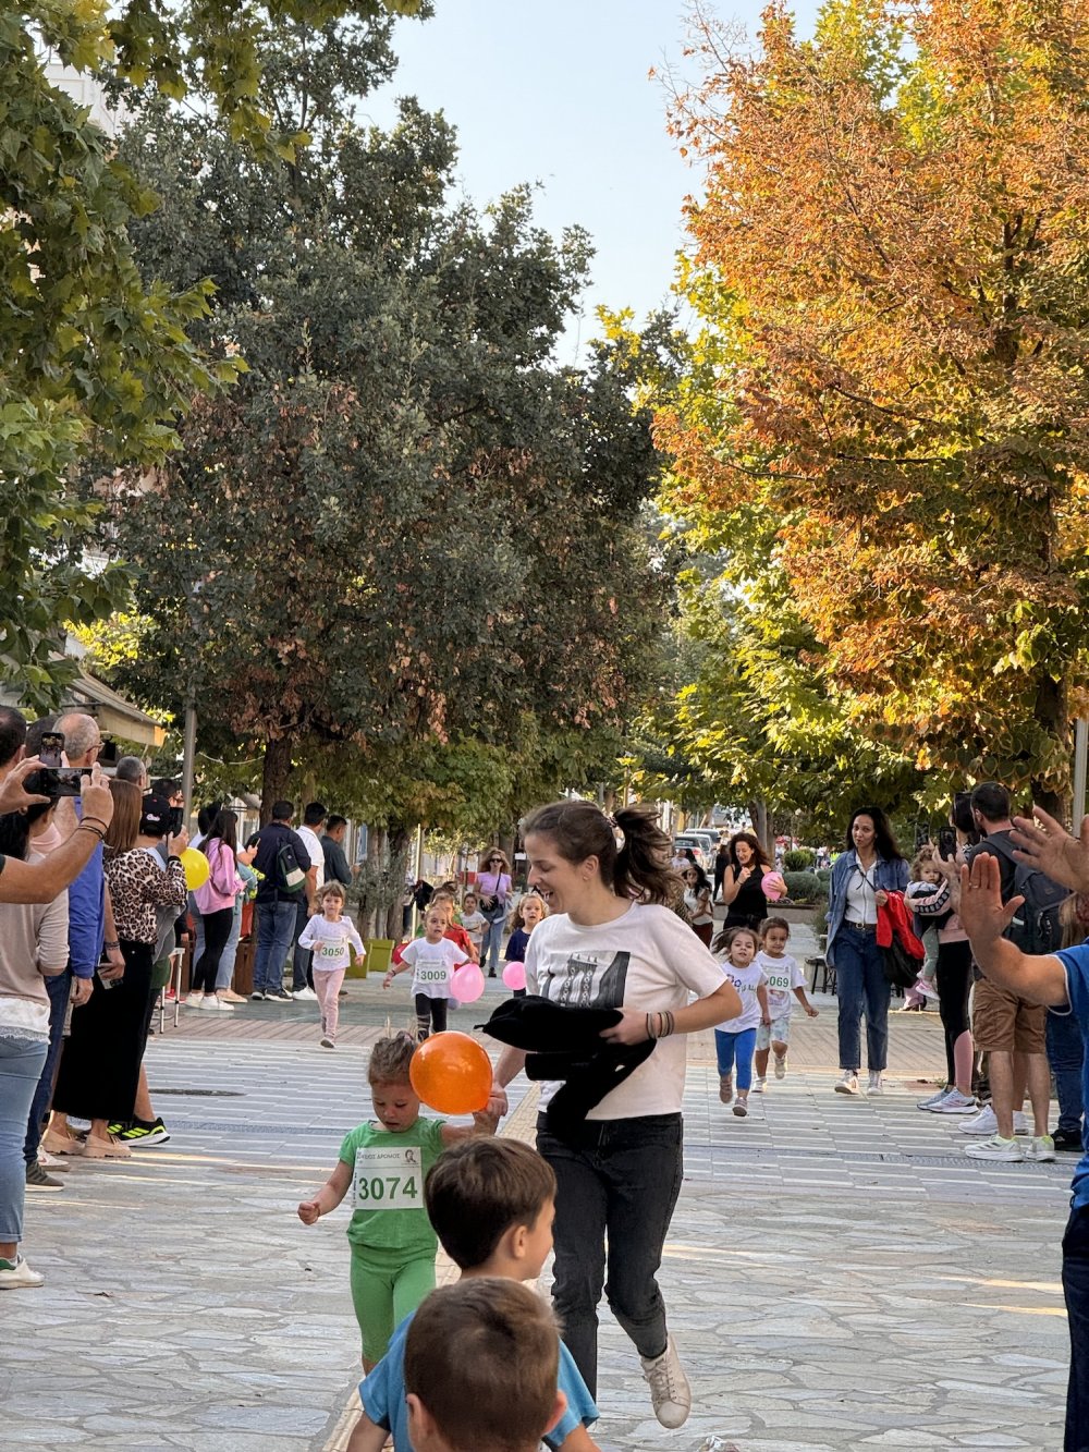
M 526 950 L 531 993 L 565 1008 L 627 1008 L 649 1013 L 685 1008 L 722 987 L 714 961 L 687 922 L 668 908 L 632 903 L 614 922 L 582 926 L 566 913 L 533 929 Z M 635 1119 L 680 1114 L 687 1035 L 655 1044 L 650 1057 L 595 1105 L 587 1119 Z M 542 1085 L 544 1108 L 559 1082 Z

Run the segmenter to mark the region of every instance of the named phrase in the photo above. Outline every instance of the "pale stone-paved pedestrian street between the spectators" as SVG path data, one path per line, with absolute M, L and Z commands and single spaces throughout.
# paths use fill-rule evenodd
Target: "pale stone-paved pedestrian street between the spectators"
M 315 1044 L 314 1005 L 245 1006 L 229 1032 L 209 1015 L 213 1034 L 190 1013 L 152 1040 L 170 1143 L 77 1162 L 62 1192 L 28 1198 L 25 1250 L 48 1279 L 0 1302 L 0 1446 L 343 1446 L 347 1211 L 308 1230 L 295 1205 L 369 1112 L 367 1044 L 391 998 L 351 984 L 335 1054 Z M 1073 1157 L 967 1160 L 955 1119 L 916 1111 L 942 1063 L 934 1013 L 892 1015 L 883 1098 L 832 1093 L 835 1003 L 816 1002 L 815 1022 L 796 1015 L 788 1077 L 748 1119 L 719 1104 L 711 1035 L 691 1045 L 662 1282 L 696 1407 L 682 1430 L 658 1426 L 603 1313 L 598 1445 L 1060 1448 Z M 507 1133 L 531 1134 L 533 1112 L 524 1099 Z

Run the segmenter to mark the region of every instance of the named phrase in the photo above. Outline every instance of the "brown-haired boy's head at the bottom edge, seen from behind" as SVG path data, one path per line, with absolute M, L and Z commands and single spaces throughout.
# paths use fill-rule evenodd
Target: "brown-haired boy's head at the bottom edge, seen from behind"
M 475 1276 L 433 1291 L 405 1343 L 412 1446 L 537 1452 L 563 1413 L 558 1371 L 556 1321 L 527 1286 Z

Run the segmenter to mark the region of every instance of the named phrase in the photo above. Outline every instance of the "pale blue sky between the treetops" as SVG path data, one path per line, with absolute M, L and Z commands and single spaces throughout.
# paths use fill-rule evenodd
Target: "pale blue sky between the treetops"
M 762 0 L 722 0 L 723 19 L 755 35 Z M 540 183 L 547 231 L 581 224 L 597 257 L 559 362 L 597 333 L 595 308 L 636 318 L 669 299 L 684 244 L 681 208 L 700 173 L 666 135 L 666 94 L 650 67 L 684 64 L 680 0 L 434 0 L 423 23 L 399 22 L 399 67 L 363 107 L 378 125 L 415 94 L 457 128 L 462 190 L 484 206 L 520 182 Z M 812 0 L 799 19 L 812 16 Z M 691 64 L 691 62 L 688 62 Z

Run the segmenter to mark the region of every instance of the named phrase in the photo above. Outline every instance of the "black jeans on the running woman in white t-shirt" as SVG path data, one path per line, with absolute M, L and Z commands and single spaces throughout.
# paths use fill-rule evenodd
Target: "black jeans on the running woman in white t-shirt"
M 603 1289 L 640 1356 L 665 1350 L 656 1275 L 681 1192 L 684 1127 L 680 1114 L 587 1119 L 569 1144 L 549 1134 L 542 1115 L 537 1149 L 558 1183 L 552 1300 L 566 1347 L 595 1397 Z

